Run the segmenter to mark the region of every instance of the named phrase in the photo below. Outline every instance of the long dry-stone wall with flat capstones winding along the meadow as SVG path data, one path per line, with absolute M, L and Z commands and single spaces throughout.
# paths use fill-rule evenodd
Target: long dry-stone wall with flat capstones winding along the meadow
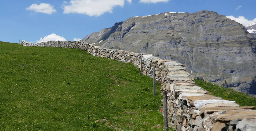
M 57 41 L 38 44 L 21 41 L 21 44 L 57 47 Z M 80 49 L 81 41 L 59 41 L 59 47 Z M 132 63 L 140 68 L 140 53 L 106 49 L 90 43 L 83 43 L 82 49 L 94 56 Z M 176 131 L 256 130 L 254 106 L 240 107 L 234 101 L 208 95 L 206 90 L 195 85 L 185 65 L 146 53 L 143 53 L 142 64 L 143 74 L 151 78 L 155 65 L 155 78 L 163 85 L 161 91 L 167 91 L 168 123 Z

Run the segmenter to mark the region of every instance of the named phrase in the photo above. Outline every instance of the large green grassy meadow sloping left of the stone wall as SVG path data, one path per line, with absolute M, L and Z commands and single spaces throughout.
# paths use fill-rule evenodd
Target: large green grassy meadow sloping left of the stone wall
M 163 127 L 160 85 L 153 97 L 138 72 L 78 49 L 0 42 L 0 130 L 162 131 L 151 128 Z

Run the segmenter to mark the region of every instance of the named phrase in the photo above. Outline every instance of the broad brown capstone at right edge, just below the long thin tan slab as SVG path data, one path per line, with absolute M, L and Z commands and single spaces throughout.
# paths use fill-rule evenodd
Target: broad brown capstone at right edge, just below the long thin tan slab
M 222 114 L 219 114 L 216 118 L 218 121 L 231 121 L 235 119 L 244 119 L 244 118 L 255 118 L 256 119 L 256 110 L 231 110 L 226 111 Z

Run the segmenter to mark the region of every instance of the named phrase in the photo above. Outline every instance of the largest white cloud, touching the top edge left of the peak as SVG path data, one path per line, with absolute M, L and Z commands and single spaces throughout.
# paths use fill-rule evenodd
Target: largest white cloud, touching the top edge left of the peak
M 112 13 L 116 6 L 124 6 L 125 1 L 132 0 L 70 0 L 64 1 L 63 13 L 80 13 L 89 16 L 100 16 L 103 13 Z

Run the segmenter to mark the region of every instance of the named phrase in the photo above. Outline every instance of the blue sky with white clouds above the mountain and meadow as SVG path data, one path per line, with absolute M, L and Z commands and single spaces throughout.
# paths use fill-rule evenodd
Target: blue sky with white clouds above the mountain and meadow
M 248 25 L 256 22 L 255 5 L 256 0 L 0 0 L 0 41 L 74 40 L 132 16 L 203 9 Z

